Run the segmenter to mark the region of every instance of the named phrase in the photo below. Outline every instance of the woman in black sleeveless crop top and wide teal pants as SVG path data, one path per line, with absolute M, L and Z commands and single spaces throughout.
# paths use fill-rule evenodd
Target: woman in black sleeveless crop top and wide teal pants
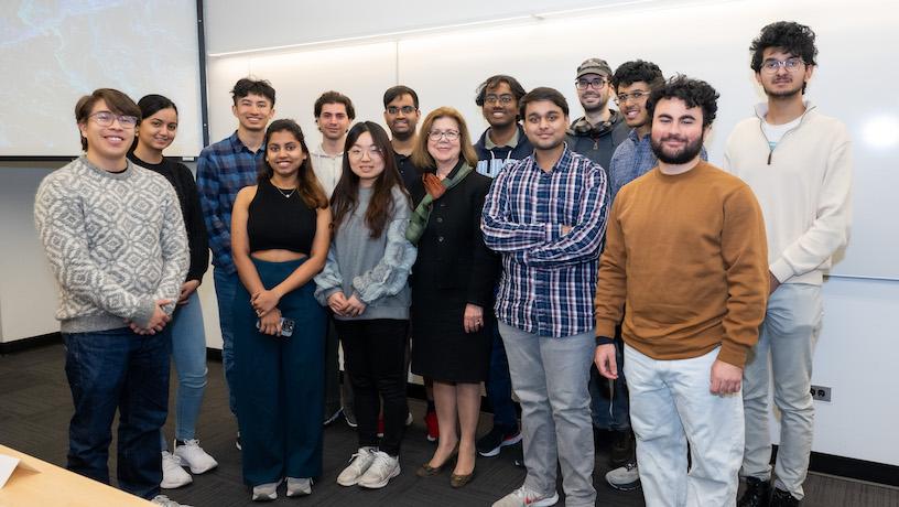
M 241 284 L 231 312 L 243 482 L 253 500 L 312 493 L 322 474 L 325 311 L 312 278 L 325 265 L 327 197 L 300 126 L 277 120 L 257 185 L 237 194 L 231 251 Z

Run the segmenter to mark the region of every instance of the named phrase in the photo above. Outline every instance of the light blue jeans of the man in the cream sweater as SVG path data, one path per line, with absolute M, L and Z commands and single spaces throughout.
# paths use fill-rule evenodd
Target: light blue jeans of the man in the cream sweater
M 766 481 L 771 477 L 768 379 L 773 370 L 775 404 L 780 410 L 775 486 L 799 499 L 804 496 L 802 483 L 812 452 L 812 354 L 823 314 L 820 287 L 780 285 L 768 299 L 758 344 L 749 352 L 743 373 L 746 449 L 741 475 Z

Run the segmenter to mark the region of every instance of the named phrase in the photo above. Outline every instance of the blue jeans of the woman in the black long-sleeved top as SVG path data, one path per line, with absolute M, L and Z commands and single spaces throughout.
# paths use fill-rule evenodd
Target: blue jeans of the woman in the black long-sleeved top
M 172 358 L 178 376 L 175 439 L 192 440 L 206 390 L 206 331 L 203 328 L 203 308 L 196 291 L 187 299 L 187 304 L 177 306 L 163 333 L 171 336 Z M 160 436 L 162 449 L 169 449 L 162 432 Z

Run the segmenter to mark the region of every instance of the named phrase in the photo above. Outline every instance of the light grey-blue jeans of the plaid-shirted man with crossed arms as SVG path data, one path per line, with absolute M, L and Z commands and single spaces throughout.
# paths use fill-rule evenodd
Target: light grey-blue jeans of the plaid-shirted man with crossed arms
M 512 389 L 521 402 L 524 487 L 555 493 L 556 463 L 562 467 L 565 505 L 593 506 L 593 423 L 589 368 L 595 333 L 561 338 L 531 334 L 499 322 L 509 358 Z

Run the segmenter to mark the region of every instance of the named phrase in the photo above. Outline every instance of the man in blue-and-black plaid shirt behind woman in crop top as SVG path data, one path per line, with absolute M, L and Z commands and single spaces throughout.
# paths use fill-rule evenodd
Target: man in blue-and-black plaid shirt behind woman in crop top
M 256 183 L 259 162 L 264 157 L 266 126 L 274 115 L 274 88 L 267 80 L 242 78 L 231 89 L 237 131 L 203 149 L 197 160 L 197 190 L 203 206 L 209 248 L 213 250 L 213 277 L 221 327 L 221 363 L 228 384 L 228 403 L 237 416 L 231 376 L 234 375 L 234 334 L 231 302 L 240 280 L 231 258 L 231 208 L 238 191 Z M 240 435 L 237 438 L 240 449 Z

